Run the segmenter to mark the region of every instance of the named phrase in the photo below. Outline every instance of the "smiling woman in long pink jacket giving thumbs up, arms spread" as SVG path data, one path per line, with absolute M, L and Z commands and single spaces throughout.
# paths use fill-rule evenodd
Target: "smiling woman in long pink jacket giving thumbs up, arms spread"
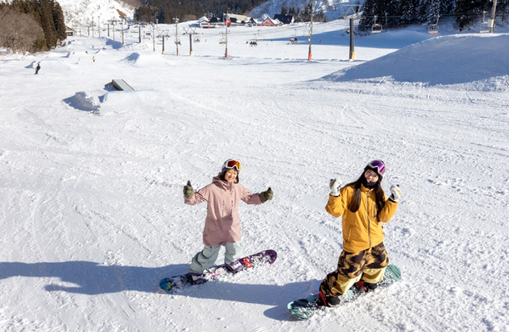
M 184 203 L 196 205 L 207 202 L 207 216 L 203 232 L 204 250 L 198 252 L 189 266 L 193 284 L 204 282 L 203 271 L 215 264 L 221 246 L 224 246 L 224 263 L 232 273 L 237 273 L 244 266 L 238 260 L 242 257 L 240 243 L 240 219 L 238 205 L 240 200 L 247 204 L 261 204 L 272 199 L 271 188 L 259 194 L 252 194 L 239 183 L 240 163 L 237 160 L 226 160 L 220 174 L 215 176 L 210 185 L 195 192 L 188 181 L 184 186 Z

